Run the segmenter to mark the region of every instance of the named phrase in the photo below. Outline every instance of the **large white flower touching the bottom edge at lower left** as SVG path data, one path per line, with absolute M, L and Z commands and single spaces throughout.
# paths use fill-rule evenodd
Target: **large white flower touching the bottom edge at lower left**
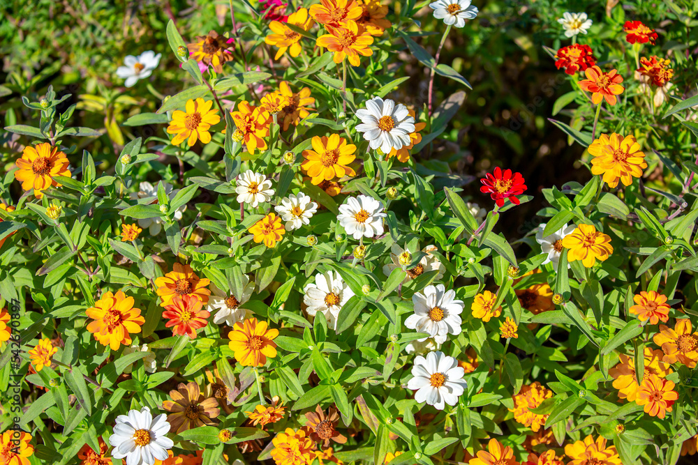
M 114 447 L 112 457 L 123 459 L 126 465 L 153 465 L 155 460 L 168 458 L 168 449 L 174 443 L 165 436 L 170 431 L 170 423 L 165 413 L 153 418 L 148 407 L 128 411 L 128 415 L 117 416 L 114 434 L 109 443 Z

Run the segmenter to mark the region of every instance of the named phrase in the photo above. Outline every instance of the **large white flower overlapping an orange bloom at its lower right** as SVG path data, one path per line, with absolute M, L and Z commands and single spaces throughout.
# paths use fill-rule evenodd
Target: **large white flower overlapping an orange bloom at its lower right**
M 374 150 L 380 148 L 383 153 L 390 153 L 392 148 L 400 149 L 410 145 L 410 132 L 415 132 L 415 119 L 410 116 L 407 107 L 395 105 L 392 100 L 373 97 L 366 102 L 365 109 L 356 112 L 362 124 L 356 130 L 364 133 L 364 139 Z

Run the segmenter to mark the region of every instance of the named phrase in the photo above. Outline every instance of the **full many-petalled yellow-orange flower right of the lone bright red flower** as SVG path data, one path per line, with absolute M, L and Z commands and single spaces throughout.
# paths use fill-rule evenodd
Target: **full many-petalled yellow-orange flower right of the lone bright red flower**
M 640 145 L 634 137 L 612 133 L 602 134 L 589 146 L 591 173 L 602 174 L 604 183 L 615 188 L 618 180 L 624 185 L 632 184 L 633 176 L 642 177 L 642 168 L 647 167 L 645 154 L 640 151 Z

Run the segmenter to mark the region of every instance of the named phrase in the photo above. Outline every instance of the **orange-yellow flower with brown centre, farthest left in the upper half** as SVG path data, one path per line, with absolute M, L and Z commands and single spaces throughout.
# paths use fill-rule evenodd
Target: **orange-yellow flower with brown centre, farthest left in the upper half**
M 61 187 L 62 184 L 54 181 L 53 176 L 68 176 L 68 158 L 59 151 L 58 147 L 52 147 L 49 143 L 37 144 L 35 147 L 26 146 L 22 151 L 22 158 L 17 160 L 15 179 L 22 183 L 22 189 L 34 189 L 37 199 L 43 197 L 43 190 L 50 187 Z

